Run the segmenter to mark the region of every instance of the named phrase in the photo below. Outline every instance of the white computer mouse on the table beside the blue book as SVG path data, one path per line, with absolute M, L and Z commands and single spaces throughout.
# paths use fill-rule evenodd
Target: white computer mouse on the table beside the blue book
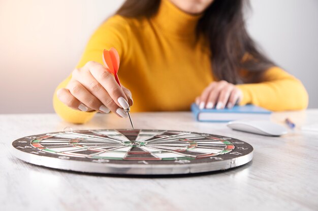
M 233 130 L 264 136 L 282 136 L 288 133 L 283 126 L 267 120 L 230 121 L 227 126 Z

